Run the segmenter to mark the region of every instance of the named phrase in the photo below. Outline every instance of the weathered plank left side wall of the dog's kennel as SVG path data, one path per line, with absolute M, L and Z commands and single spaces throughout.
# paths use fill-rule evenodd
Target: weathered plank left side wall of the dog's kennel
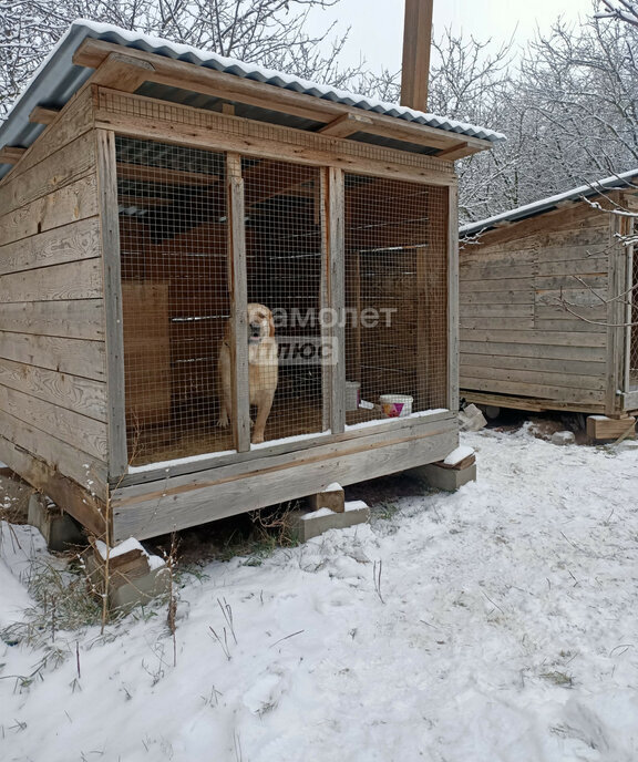
M 107 460 L 90 105 L 75 96 L 0 184 L 0 460 L 54 500 L 83 485 L 88 509 Z

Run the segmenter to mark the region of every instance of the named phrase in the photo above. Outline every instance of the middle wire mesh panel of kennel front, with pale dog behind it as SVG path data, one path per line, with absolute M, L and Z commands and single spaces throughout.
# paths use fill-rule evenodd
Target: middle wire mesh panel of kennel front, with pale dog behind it
M 321 171 L 244 157 L 241 174 L 251 441 L 258 444 L 323 428 Z

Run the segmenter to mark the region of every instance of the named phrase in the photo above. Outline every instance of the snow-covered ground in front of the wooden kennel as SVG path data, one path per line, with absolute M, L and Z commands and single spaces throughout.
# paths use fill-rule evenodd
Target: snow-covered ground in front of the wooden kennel
M 186 576 L 175 667 L 158 608 L 59 634 L 69 658 L 28 688 L 42 653 L 2 645 L 2 759 L 638 759 L 638 450 L 463 442 L 480 481 L 455 494 Z

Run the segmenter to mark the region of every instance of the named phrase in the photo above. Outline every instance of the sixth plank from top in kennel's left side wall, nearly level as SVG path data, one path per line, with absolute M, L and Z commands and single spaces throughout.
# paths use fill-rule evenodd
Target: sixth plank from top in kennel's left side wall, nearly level
M 104 301 L 82 299 L 2 305 L 0 331 L 100 341 L 104 339 Z

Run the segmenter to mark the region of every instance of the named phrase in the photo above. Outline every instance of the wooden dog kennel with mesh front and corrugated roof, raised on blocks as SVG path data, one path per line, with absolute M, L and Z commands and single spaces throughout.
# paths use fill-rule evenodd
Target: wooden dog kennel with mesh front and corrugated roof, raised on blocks
M 445 457 L 454 159 L 501 137 L 74 23 L 0 130 L 0 459 L 117 542 Z

